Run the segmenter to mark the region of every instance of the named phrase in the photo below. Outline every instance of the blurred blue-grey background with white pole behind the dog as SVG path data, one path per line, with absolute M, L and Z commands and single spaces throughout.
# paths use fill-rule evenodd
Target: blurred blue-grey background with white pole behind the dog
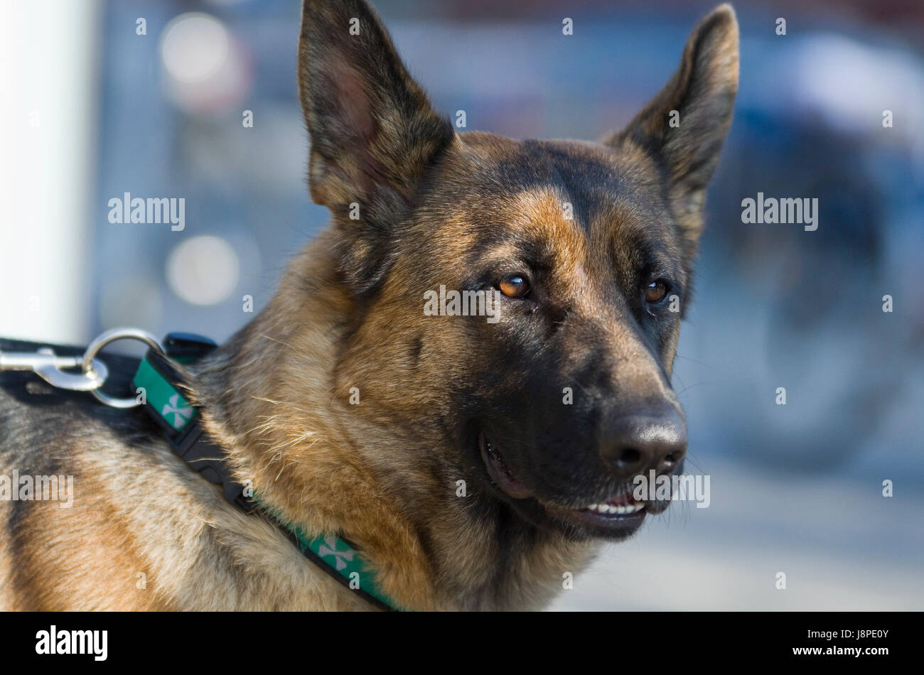
M 715 5 L 374 4 L 444 114 L 577 139 L 625 124 Z M 675 368 L 711 506 L 606 548 L 554 609 L 924 609 L 924 4 L 734 6 L 741 84 Z M 327 222 L 305 182 L 298 0 L 0 12 L 0 335 L 226 339 Z M 741 223 L 759 191 L 818 198 L 818 230 Z M 185 198 L 185 230 L 110 223 L 126 192 Z

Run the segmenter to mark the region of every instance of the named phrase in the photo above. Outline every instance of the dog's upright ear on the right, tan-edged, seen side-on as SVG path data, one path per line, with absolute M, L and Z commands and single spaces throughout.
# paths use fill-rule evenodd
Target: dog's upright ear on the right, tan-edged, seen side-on
M 738 89 L 738 23 L 718 6 L 693 30 L 673 78 L 621 132 L 604 142 L 661 156 L 687 247 L 696 251 L 706 186 L 719 162 Z

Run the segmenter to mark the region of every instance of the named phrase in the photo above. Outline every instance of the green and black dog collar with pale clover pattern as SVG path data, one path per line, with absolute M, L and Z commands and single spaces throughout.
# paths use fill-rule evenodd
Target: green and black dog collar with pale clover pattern
M 181 344 L 182 349 L 172 352 L 172 344 Z M 180 363 L 193 361 L 213 347 L 211 341 L 188 334 L 174 333 L 164 340 L 166 356 Z M 397 609 L 375 583 L 374 573 L 355 545 L 334 534 L 309 536 L 300 525 L 281 519 L 254 495 L 253 488 L 237 483 L 225 463 L 224 450 L 201 428 L 199 410 L 188 402 L 175 383 L 183 383 L 179 370 L 168 358 L 149 350 L 135 373 L 134 386 L 139 395 L 143 392 L 144 408 L 164 429 L 164 437 L 174 452 L 207 480 L 221 484 L 226 500 L 245 512 L 264 512 L 289 536 L 302 555 L 341 584 L 380 609 Z

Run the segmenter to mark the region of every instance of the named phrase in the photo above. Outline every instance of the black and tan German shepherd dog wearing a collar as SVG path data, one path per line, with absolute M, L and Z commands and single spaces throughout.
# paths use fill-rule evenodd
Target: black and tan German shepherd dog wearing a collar
M 626 128 L 518 141 L 456 133 L 363 0 L 305 0 L 310 195 L 333 220 L 189 367 L 237 478 L 355 543 L 400 609 L 541 609 L 663 512 L 632 479 L 687 450 L 671 305 L 690 301 L 737 42 L 720 6 Z M 491 292 L 497 320 L 428 316 L 441 285 Z M 74 476 L 75 499 L 0 501 L 0 608 L 370 607 L 139 409 L 2 381 L 0 469 Z

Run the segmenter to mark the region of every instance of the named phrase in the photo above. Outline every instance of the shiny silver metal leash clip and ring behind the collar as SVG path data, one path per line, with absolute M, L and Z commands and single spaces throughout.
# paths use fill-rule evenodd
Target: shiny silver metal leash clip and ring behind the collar
M 83 356 L 58 356 L 51 347 L 34 352 L 4 352 L 0 350 L 0 371 L 30 370 L 58 389 L 71 392 L 91 392 L 98 400 L 114 408 L 131 408 L 139 403 L 134 398 L 116 398 L 100 391 L 109 370 L 96 355 L 106 344 L 122 339 L 139 340 L 163 355 L 164 347 L 151 333 L 137 328 L 114 328 L 93 340 Z M 80 372 L 67 370 L 79 368 Z

